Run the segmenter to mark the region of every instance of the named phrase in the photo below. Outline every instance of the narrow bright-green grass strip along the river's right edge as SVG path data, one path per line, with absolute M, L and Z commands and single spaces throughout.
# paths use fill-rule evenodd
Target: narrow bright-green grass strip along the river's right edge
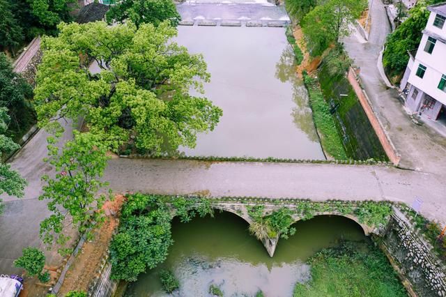
M 314 125 L 321 137 L 321 144 L 325 151 L 337 160 L 346 160 L 347 155 L 337 132 L 336 124 L 330 107 L 325 99 L 317 80 L 303 73 L 305 86 L 309 93 L 309 105 L 312 107 Z

